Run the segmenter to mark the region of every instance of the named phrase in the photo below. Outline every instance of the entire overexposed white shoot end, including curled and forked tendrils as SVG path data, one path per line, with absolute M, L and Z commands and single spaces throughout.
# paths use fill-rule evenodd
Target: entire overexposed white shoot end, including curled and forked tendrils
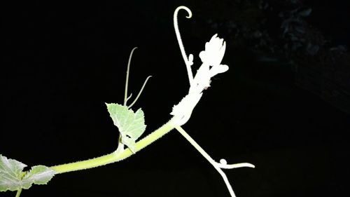
M 255 166 L 251 163 L 236 163 L 236 164 L 228 164 L 225 159 L 221 159 L 220 163 L 217 163 L 212 159 L 207 152 L 200 147 L 195 140 L 193 140 L 188 133 L 186 133 L 181 125 L 185 124 L 192 114 L 193 109 L 200 102 L 200 98 L 203 95 L 203 91 L 210 87 L 211 77 L 216 76 L 216 74 L 223 73 L 228 71 L 228 65 L 221 64 L 223 60 L 223 55 L 225 55 L 226 43 L 223 39 L 218 38 L 217 34 L 211 37 L 210 41 L 205 43 L 205 50 L 200 52 L 200 59 L 202 60 L 202 65 L 197 70 L 197 73 L 193 77 L 191 66 L 193 65 L 193 55 L 190 54 L 187 57 L 185 48 L 183 47 L 183 43 L 181 41 L 181 36 L 179 32 L 179 25 L 177 22 L 177 14 L 179 10 L 184 9 L 188 12 L 188 18 L 192 16 L 192 13 L 189 8 L 185 6 L 179 6 L 176 8 L 174 12 L 174 27 L 176 32 L 176 37 L 179 41 L 179 46 L 181 50 L 181 54 L 183 56 L 183 60 L 186 63 L 186 69 L 188 72 L 188 79 L 190 80 L 190 88 L 188 90 L 188 95 L 183 97 L 179 104 L 174 105 L 172 114 L 174 120 L 174 128 L 178 130 L 183 137 L 190 142 L 190 144 L 197 149 L 197 151 L 204 156 L 204 158 L 214 166 L 214 168 L 219 172 L 221 177 L 230 192 L 232 197 L 235 197 L 235 192 L 232 189 L 230 182 L 228 181 L 228 177 L 226 177 L 225 172 L 222 169 L 233 169 L 233 168 L 241 168 L 241 167 L 249 167 L 255 168 Z

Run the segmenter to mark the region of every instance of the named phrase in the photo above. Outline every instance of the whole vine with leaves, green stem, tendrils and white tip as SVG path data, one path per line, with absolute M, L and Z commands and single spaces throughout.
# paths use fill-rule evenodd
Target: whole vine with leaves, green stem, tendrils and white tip
M 181 10 L 185 10 L 188 13 L 187 18 L 192 17 L 192 12 L 186 6 L 179 6 L 174 11 L 174 29 L 176 33 L 176 38 L 179 42 L 181 54 L 183 60 L 186 64 L 186 69 L 188 72 L 188 79 L 190 82 L 190 88 L 188 94 L 183 97 L 179 104 L 174 105 L 172 112 L 172 118 L 162 125 L 153 133 L 147 135 L 146 137 L 139 140 L 139 137 L 146 130 L 146 125 L 144 123 L 144 111 L 142 109 L 137 109 L 133 111 L 131 107 L 139 99 L 148 79 L 148 76 L 144 81 L 141 90 L 139 91 L 137 97 L 134 101 L 127 106 L 127 101 L 132 97 L 132 94 L 128 96 L 128 82 L 130 74 L 130 62 L 132 60 L 132 55 L 136 48 L 132 49 L 130 53 L 129 61 L 127 64 L 127 74 L 125 79 L 125 95 L 124 102 L 122 104 L 110 103 L 106 104 L 109 114 L 113 120 L 114 125 L 118 127 L 120 132 L 118 139 L 118 148 L 111 154 L 105 156 L 99 156 L 97 158 L 88 159 L 85 161 L 78 161 L 73 163 L 66 163 L 62 165 L 54 165 L 47 167 L 44 165 L 36 165 L 31 168 L 31 170 L 23 172 L 23 169 L 27 166 L 20 161 L 15 161 L 14 159 L 6 158 L 6 156 L 0 155 L 0 191 L 17 191 L 16 197 L 20 196 L 22 189 L 29 189 L 32 184 L 47 184 L 54 175 L 62 174 L 65 172 L 72 172 L 76 170 L 86 170 L 89 168 L 95 168 L 109 163 L 115 163 L 117 161 L 122 161 L 133 154 L 136 154 L 141 149 L 144 149 L 149 144 L 155 142 L 163 135 L 169 133 L 170 130 L 174 128 L 183 135 L 183 137 L 190 142 L 190 144 L 197 149 L 197 151 L 204 156 L 204 158 L 214 166 L 218 173 L 223 178 L 225 186 L 228 188 L 230 195 L 235 196 L 228 177 L 225 175 L 222 169 L 232 169 L 249 167 L 254 168 L 251 163 L 237 163 L 228 164 L 225 159 L 221 159 L 218 163 L 214 161 L 209 154 L 207 154 L 202 147 L 200 147 L 195 140 L 193 140 L 188 133 L 186 133 L 181 125 L 187 123 L 190 119 L 193 109 L 200 101 L 204 90 L 210 86 L 211 78 L 217 74 L 228 71 L 228 65 L 221 64 L 223 60 L 223 55 L 225 54 L 226 43 L 223 39 L 218 38 L 217 34 L 211 37 L 210 41 L 205 44 L 205 50 L 200 53 L 200 59 L 202 60 L 202 65 L 197 70 L 195 76 L 193 76 L 192 68 L 193 65 L 193 55 L 186 55 L 183 42 L 181 40 L 181 34 L 178 25 L 178 13 Z M 138 141 L 137 141 L 138 140 Z

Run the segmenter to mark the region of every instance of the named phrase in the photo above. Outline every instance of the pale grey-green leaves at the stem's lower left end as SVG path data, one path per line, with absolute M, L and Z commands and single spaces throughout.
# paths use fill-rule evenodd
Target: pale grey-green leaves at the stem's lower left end
M 19 189 L 29 189 L 31 184 L 47 184 L 56 174 L 44 165 L 36 165 L 23 172 L 27 165 L 6 156 L 0 155 L 0 191 L 16 191 Z

